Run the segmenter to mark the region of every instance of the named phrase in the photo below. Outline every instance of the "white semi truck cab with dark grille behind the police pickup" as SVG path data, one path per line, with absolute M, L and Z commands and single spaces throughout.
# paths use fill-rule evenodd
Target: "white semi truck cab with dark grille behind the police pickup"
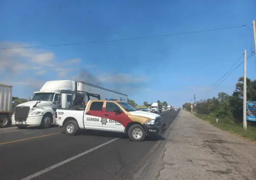
M 12 124 L 18 128 L 26 128 L 28 125 L 49 128 L 51 124 L 55 123 L 55 112 L 61 90 L 73 91 L 75 89 L 75 81 L 47 81 L 39 91 L 33 93 L 31 101 L 16 106 L 11 117 Z M 69 106 L 70 101 L 71 95 L 61 98 L 64 106 Z

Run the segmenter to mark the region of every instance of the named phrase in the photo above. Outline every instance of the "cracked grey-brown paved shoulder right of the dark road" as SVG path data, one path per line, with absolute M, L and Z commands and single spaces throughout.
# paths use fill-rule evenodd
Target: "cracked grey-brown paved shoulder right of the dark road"
M 256 179 L 256 147 L 184 110 L 164 145 L 155 179 Z M 158 169 L 157 169 L 158 170 Z M 156 171 L 156 170 L 155 170 Z

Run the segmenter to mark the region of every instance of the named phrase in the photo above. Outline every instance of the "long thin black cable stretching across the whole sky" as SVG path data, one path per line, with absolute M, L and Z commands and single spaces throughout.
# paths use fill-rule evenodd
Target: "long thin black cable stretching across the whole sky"
M 245 27 L 245 26 L 247 26 L 247 25 L 233 26 L 233 27 L 223 27 L 223 28 L 217 28 L 217 29 L 211 29 L 211 30 L 190 31 L 190 32 L 186 32 L 186 33 L 175 33 L 175 34 L 154 35 L 154 36 L 139 37 L 139 38 L 117 39 L 117 40 L 109 40 L 109 41 L 91 41 L 91 42 L 83 42 L 83 43 L 52 44 L 52 45 L 43 45 L 43 46 L 9 47 L 9 48 L 0 48 L 0 50 L 4 50 L 4 49 L 22 49 L 22 48 L 36 48 L 36 47 L 50 47 L 50 46 L 70 46 L 70 45 L 80 45 L 80 44 L 97 44 L 97 43 L 109 43 L 109 42 L 117 42 L 117 41 L 130 41 L 130 40 L 146 39 L 146 38 L 167 37 L 167 36 L 172 36 L 172 35 L 202 33 L 202 32 L 207 32 L 207 31 L 214 31 L 214 30 L 225 30 L 225 29 L 232 29 L 232 28 Z

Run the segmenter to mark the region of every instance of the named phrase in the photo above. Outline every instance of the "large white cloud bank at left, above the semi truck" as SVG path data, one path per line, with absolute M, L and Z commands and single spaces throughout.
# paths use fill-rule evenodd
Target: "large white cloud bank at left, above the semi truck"
M 0 48 L 24 46 L 31 46 L 31 44 L 0 42 Z M 80 59 L 70 59 L 66 62 L 72 64 L 79 63 L 80 61 Z M 24 76 L 29 73 L 29 76 L 37 79 L 37 76 L 45 76 L 48 72 L 56 72 L 57 76 L 46 77 L 46 79 L 51 78 L 49 80 L 52 80 L 70 73 L 73 70 L 70 68 L 71 64 L 67 68 L 63 63 L 61 65 L 57 64 L 55 54 L 44 49 L 3 49 L 0 50 L 0 82 L 6 82 L 6 84 L 11 85 L 41 86 L 42 82 L 39 80 L 24 79 Z

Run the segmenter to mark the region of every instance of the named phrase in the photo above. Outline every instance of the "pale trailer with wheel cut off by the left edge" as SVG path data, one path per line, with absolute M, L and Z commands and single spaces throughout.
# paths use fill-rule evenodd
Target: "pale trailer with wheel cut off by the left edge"
M 12 86 L 0 84 L 0 127 L 11 124 Z

